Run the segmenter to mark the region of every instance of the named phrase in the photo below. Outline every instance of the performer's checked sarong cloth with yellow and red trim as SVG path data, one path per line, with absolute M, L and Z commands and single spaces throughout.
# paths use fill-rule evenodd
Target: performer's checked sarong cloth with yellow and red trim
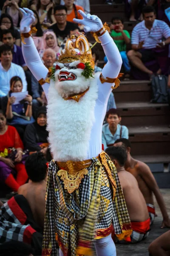
M 119 239 L 125 239 L 132 232 L 112 161 L 104 151 L 89 161 L 91 165 L 86 169 L 87 174 L 71 193 L 65 185 L 65 178 L 59 175 L 62 170 L 54 161 L 49 165 L 42 246 L 44 256 L 57 255 L 57 242 L 64 256 L 91 255 L 93 239 L 108 236 L 112 232 L 112 224 Z M 77 164 L 72 163 L 73 166 Z

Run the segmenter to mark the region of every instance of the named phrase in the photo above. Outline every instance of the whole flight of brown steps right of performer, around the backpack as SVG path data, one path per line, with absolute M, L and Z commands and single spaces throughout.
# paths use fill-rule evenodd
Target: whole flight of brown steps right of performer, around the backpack
M 164 172 L 164 166 L 170 163 L 168 104 L 150 103 L 150 81 L 121 81 L 113 93 L 121 124 L 129 129 L 132 155 L 147 163 L 152 172 Z

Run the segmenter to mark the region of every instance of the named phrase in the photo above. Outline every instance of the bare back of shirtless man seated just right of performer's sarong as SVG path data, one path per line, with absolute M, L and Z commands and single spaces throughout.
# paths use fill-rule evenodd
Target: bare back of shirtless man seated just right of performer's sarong
M 146 202 L 139 189 L 138 183 L 129 172 L 118 172 L 130 221 L 142 222 L 149 218 Z

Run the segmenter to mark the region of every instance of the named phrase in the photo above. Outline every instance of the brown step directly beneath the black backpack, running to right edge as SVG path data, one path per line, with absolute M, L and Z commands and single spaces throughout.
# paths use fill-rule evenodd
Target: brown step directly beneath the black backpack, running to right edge
M 169 125 L 170 108 L 168 104 L 153 104 L 149 102 L 118 102 L 116 107 L 122 116 L 122 125 L 150 126 Z

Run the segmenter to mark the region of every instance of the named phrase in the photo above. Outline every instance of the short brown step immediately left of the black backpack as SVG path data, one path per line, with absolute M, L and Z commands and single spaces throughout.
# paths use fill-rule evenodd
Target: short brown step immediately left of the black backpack
M 120 86 L 113 90 L 116 103 L 119 102 L 150 102 L 152 98 L 150 81 L 121 81 Z

